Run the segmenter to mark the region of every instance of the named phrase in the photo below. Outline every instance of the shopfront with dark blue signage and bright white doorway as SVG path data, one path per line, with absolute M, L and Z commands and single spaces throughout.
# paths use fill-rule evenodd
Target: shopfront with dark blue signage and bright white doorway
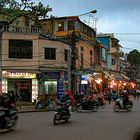
M 43 80 L 39 80 L 39 96 L 47 98 L 61 98 L 64 91 L 68 89 L 67 72 L 44 72 Z

